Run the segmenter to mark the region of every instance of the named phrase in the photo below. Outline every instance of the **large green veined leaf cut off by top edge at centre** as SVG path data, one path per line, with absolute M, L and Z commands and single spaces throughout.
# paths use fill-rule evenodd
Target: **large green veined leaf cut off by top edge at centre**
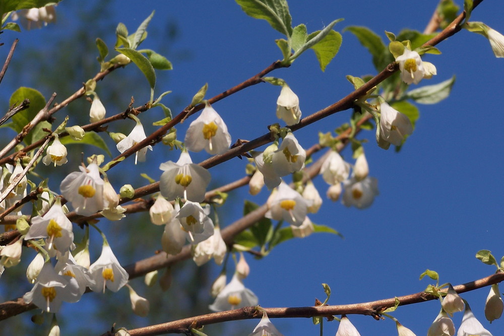
M 286 0 L 236 0 L 243 12 L 256 19 L 263 19 L 287 37 L 292 35 L 292 18 Z

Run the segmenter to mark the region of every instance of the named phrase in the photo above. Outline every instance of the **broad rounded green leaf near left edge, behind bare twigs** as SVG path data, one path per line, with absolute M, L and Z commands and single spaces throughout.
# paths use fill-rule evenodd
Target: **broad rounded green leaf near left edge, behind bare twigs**
M 27 109 L 22 110 L 12 116 L 12 122 L 9 125 L 16 131 L 21 132 L 23 127 L 33 120 L 35 115 L 45 107 L 45 98 L 40 92 L 35 89 L 20 87 L 9 99 L 9 106 L 19 105 L 23 100 L 28 99 L 30 105 Z M 50 126 L 49 126 L 50 127 Z M 35 129 L 33 129 L 23 140 L 27 145 L 33 143 L 32 137 Z

